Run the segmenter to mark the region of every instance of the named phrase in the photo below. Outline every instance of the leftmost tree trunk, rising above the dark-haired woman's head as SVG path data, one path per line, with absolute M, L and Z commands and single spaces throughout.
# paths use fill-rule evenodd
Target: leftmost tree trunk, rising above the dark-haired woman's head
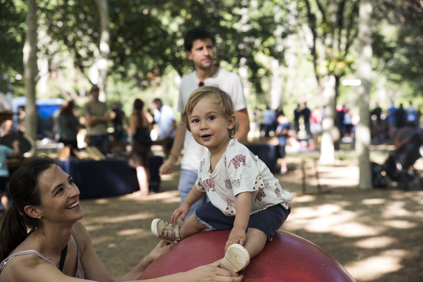
M 24 73 L 25 73 L 25 89 L 27 103 L 25 106 L 25 138 L 31 143 L 32 149 L 28 155 L 36 155 L 36 138 L 37 138 L 37 108 L 35 105 L 35 76 L 38 73 L 37 67 L 37 4 L 34 0 L 28 0 L 27 13 L 27 36 L 23 49 Z

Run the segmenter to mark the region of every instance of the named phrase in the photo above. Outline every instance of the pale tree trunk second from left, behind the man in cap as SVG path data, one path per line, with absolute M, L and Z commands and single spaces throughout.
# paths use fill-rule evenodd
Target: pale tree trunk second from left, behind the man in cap
M 99 80 L 98 80 L 98 87 L 99 87 L 99 100 L 102 102 L 106 101 L 106 79 L 107 79 L 107 71 L 109 68 L 109 52 L 110 52 L 110 33 L 109 33 L 109 6 L 107 5 L 107 0 L 95 0 L 97 5 L 97 9 L 99 10 L 100 14 L 100 22 L 101 22 L 101 37 L 100 37 L 100 57 L 98 62 L 98 69 L 99 69 Z

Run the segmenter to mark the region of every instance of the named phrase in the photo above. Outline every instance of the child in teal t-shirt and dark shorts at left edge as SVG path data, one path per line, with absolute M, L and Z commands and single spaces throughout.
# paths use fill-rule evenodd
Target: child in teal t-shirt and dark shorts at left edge
M 7 182 L 9 181 L 9 168 L 6 163 L 8 156 L 19 155 L 19 141 L 12 143 L 13 149 L 9 146 L 0 145 L 0 197 L 3 211 L 7 211 L 9 207 L 9 199 L 7 197 Z

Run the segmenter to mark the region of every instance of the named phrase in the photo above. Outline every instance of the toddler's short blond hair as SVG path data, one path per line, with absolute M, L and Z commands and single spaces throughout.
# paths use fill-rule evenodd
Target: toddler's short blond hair
M 235 114 L 235 107 L 233 106 L 233 101 L 231 96 L 228 95 L 224 90 L 220 89 L 218 86 L 204 85 L 199 87 L 197 90 L 192 92 L 190 98 L 188 98 L 187 104 L 185 105 L 185 110 L 181 116 L 181 122 L 187 127 L 191 132 L 189 116 L 192 113 L 195 105 L 202 98 L 211 98 L 214 103 L 220 106 L 220 111 L 222 115 L 229 119 L 233 114 Z M 235 125 L 229 130 L 229 136 L 233 138 L 236 132 L 236 122 Z

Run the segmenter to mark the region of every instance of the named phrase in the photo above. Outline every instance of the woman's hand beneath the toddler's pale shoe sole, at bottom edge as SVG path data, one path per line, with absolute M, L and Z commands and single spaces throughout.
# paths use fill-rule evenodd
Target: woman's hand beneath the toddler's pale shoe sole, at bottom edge
M 199 266 L 185 272 L 187 281 L 216 281 L 216 282 L 241 282 L 244 275 L 220 268 L 220 261 L 210 263 L 205 266 Z M 192 279 L 192 280 L 191 280 Z

